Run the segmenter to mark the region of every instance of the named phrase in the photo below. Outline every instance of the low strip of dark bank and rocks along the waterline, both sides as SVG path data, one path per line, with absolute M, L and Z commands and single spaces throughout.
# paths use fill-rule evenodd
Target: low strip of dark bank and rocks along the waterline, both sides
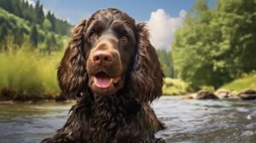
M 218 89 L 215 92 L 209 90 L 199 90 L 192 94 L 180 94 L 183 100 L 256 100 L 256 90 L 229 90 L 229 89 Z M 169 94 L 163 96 L 175 96 L 175 94 Z M 0 96 L 0 103 L 13 103 L 13 102 L 73 102 L 67 100 L 66 97 L 59 94 L 41 94 L 41 95 L 28 95 L 28 94 L 17 94 L 11 89 L 2 89 Z

